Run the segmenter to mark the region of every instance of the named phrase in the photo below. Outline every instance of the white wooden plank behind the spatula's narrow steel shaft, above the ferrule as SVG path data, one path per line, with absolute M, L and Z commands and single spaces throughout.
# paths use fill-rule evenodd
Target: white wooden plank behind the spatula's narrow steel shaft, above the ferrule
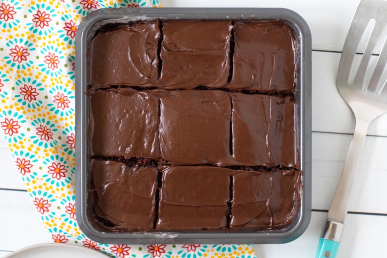
M 328 209 L 352 135 L 312 135 L 312 199 L 314 209 Z M 387 137 L 367 136 L 349 204 L 350 211 L 386 213 Z

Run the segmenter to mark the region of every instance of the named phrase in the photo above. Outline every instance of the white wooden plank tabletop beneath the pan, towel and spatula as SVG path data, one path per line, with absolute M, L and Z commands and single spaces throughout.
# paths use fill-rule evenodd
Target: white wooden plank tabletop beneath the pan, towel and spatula
M 160 0 L 164 7 L 285 7 L 305 18 L 313 39 L 312 220 L 297 240 L 256 245 L 258 258 L 312 258 L 351 141 L 354 119 L 335 77 L 340 51 L 358 0 Z M 386 14 L 387 15 L 387 14 Z M 354 183 L 339 258 L 387 257 L 387 116 L 366 138 Z M 0 257 L 25 246 L 52 242 L 0 137 Z

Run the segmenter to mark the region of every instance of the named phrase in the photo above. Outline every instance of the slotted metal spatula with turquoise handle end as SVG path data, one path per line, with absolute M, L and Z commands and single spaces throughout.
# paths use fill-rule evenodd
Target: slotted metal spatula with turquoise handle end
M 362 35 L 370 21 L 375 23 L 362 54 L 359 68 L 355 70 L 353 82 L 350 71 L 356 50 Z M 351 145 L 348 150 L 343 171 L 329 207 L 316 258 L 335 258 L 344 230 L 344 220 L 348 211 L 349 197 L 357 167 L 366 138 L 369 124 L 380 115 L 387 113 L 387 80 L 384 72 L 387 62 L 386 32 L 387 1 L 362 0 L 352 19 L 348 35 L 345 39 L 340 64 L 337 71 L 337 89 L 341 97 L 352 109 L 356 126 Z M 382 35 L 384 34 L 384 35 Z M 376 66 L 369 65 L 375 44 L 383 40 L 383 48 Z M 373 69 L 370 71 L 369 69 Z M 386 68 L 387 69 L 387 68 Z M 365 82 L 366 74 L 372 74 Z

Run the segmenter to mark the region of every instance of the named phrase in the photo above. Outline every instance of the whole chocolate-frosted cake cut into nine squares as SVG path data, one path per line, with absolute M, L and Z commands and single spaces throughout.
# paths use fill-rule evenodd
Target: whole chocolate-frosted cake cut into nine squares
M 90 209 L 105 232 L 284 229 L 302 174 L 279 20 L 108 25 L 89 45 Z

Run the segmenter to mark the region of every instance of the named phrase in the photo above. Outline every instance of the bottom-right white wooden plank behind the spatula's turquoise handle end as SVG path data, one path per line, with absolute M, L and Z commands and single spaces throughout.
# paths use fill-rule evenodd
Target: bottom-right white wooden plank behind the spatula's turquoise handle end
M 254 245 L 261 257 L 315 257 L 325 212 L 312 212 L 311 223 L 297 240 L 282 245 Z M 337 257 L 385 257 L 387 216 L 348 214 Z

